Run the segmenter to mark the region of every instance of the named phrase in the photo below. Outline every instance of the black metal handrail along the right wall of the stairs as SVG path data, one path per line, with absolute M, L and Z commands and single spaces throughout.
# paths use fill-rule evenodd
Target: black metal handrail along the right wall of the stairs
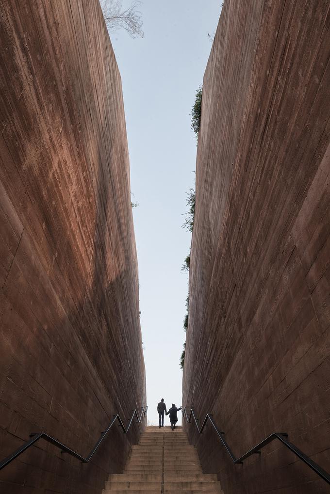
M 313 461 L 309 456 L 307 456 L 305 453 L 303 453 L 302 451 L 300 451 L 294 444 L 290 443 L 287 440 L 288 435 L 287 435 L 286 432 L 273 432 L 273 434 L 271 434 L 270 436 L 266 437 L 266 439 L 264 439 L 263 441 L 261 441 L 261 443 L 257 444 L 257 446 L 254 446 L 254 448 L 251 448 L 249 451 L 247 451 L 246 453 L 242 454 L 239 458 L 236 458 L 236 456 L 234 455 L 234 453 L 230 449 L 227 441 L 223 437 L 225 433 L 223 431 L 219 431 L 218 427 L 214 423 L 214 420 L 212 418 L 212 414 L 211 413 L 207 413 L 206 414 L 206 416 L 204 418 L 204 421 L 202 423 L 202 426 L 200 428 L 199 428 L 198 423 L 197 423 L 199 421 L 199 419 L 195 417 L 195 414 L 194 414 L 193 410 L 191 409 L 190 410 L 190 413 L 188 415 L 187 409 L 186 409 L 186 407 L 184 407 L 183 418 L 186 417 L 187 421 L 190 423 L 191 416 L 194 419 L 194 422 L 196 424 L 196 427 L 198 429 L 199 434 L 202 434 L 203 433 L 203 430 L 204 430 L 207 422 L 208 421 L 211 422 L 211 424 L 213 425 L 216 433 L 218 434 L 218 436 L 220 438 L 221 443 L 226 448 L 227 453 L 230 455 L 230 457 L 233 460 L 233 463 L 235 463 L 235 464 L 243 463 L 243 460 L 245 460 L 246 458 L 248 458 L 252 454 L 261 454 L 261 451 L 260 450 L 262 448 L 264 448 L 265 446 L 267 446 L 267 444 L 271 443 L 275 439 L 278 439 L 279 441 L 281 441 L 281 443 L 284 446 L 286 446 L 286 448 L 288 448 L 292 453 L 294 453 L 296 456 L 298 456 L 298 458 L 300 458 L 306 465 L 308 465 L 312 470 L 314 470 L 315 473 L 317 473 L 323 480 L 325 480 L 328 484 L 330 484 L 330 474 L 328 472 L 326 472 L 323 468 L 321 468 L 320 465 L 318 465 L 317 463 L 315 463 L 315 461 Z

